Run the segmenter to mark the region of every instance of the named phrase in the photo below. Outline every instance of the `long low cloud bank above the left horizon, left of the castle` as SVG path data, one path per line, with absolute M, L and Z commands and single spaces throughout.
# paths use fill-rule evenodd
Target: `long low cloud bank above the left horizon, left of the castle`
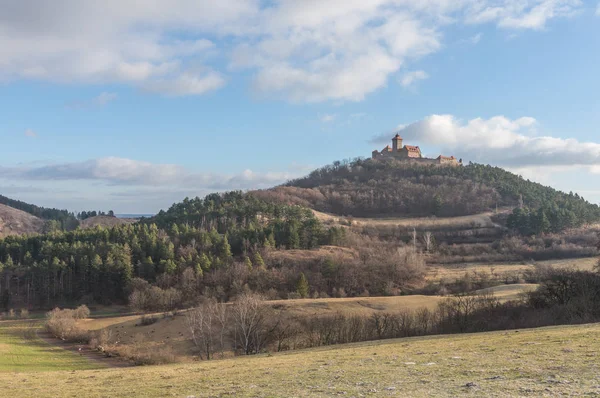
M 244 170 L 234 175 L 197 173 L 174 164 L 156 164 L 106 157 L 83 162 L 0 167 L 0 179 L 17 181 L 102 181 L 110 185 L 175 187 L 178 189 L 229 190 L 264 188 L 294 176 L 289 172 L 258 173 Z

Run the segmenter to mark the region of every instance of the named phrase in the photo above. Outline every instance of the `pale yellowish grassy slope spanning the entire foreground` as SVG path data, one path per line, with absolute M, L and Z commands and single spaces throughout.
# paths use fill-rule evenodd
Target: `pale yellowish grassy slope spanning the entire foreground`
M 593 395 L 600 392 L 599 350 L 600 325 L 594 324 L 388 340 L 198 364 L 0 374 L 0 385 L 4 396 L 15 397 Z

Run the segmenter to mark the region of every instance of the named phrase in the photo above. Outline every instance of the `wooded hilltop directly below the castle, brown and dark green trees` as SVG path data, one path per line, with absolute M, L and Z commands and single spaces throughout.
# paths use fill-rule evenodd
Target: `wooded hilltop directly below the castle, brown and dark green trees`
M 255 195 L 355 217 L 461 216 L 522 204 L 549 213 L 572 212 L 576 223 L 600 219 L 600 208 L 578 195 L 481 164 L 439 167 L 394 160 L 335 162 Z

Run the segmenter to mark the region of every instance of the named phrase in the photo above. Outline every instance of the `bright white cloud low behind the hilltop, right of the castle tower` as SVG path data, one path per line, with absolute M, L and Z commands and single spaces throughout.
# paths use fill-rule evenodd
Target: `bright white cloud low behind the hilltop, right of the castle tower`
M 447 155 L 493 165 L 600 169 L 600 144 L 573 138 L 538 135 L 531 117 L 504 116 L 462 121 L 452 115 L 431 115 L 400 130 L 406 142 L 435 146 Z M 391 139 L 389 134 L 387 141 Z M 372 142 L 382 143 L 384 136 Z

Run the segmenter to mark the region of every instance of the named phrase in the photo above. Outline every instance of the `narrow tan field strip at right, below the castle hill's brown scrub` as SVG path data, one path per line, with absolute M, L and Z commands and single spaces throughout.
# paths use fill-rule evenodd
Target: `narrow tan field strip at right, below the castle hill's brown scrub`
M 521 275 L 525 271 L 534 270 L 535 264 L 551 268 L 573 268 L 581 271 L 591 271 L 597 262 L 597 258 L 573 258 L 537 261 L 535 263 L 467 263 L 456 266 L 431 266 L 428 267 L 426 278 L 430 281 L 456 280 L 463 277 L 465 273 L 473 272 L 501 278 L 505 275 Z

